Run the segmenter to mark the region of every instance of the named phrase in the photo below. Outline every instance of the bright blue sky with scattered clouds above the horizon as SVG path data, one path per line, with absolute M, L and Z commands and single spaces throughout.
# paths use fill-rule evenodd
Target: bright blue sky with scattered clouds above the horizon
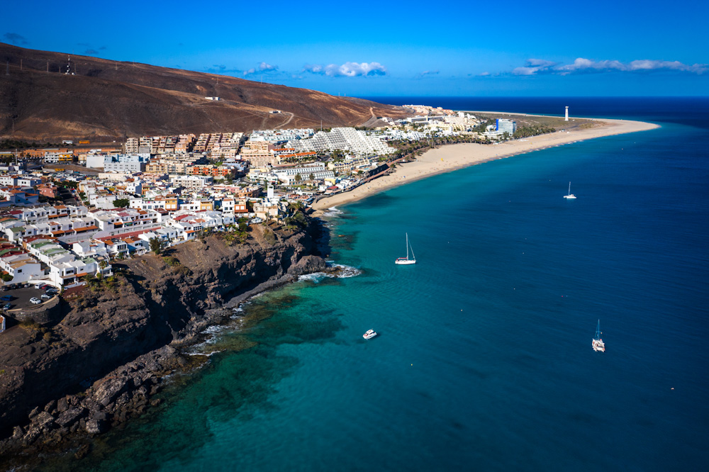
M 0 41 L 349 96 L 709 94 L 709 2 L 11 2 Z

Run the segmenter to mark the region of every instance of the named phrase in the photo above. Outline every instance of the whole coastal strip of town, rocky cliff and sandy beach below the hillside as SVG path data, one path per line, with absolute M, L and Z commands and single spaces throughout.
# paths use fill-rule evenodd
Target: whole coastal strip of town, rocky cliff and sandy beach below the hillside
M 0 403 L 13 426 L 0 454 L 24 461 L 26 451 L 58 447 L 80 459 L 91 437 L 159 405 L 172 373 L 208 361 L 185 349 L 238 320 L 242 303 L 306 274 L 349 276 L 328 264 L 318 219 L 328 208 L 655 126 L 409 109 L 364 129 L 74 137 L 3 152 Z

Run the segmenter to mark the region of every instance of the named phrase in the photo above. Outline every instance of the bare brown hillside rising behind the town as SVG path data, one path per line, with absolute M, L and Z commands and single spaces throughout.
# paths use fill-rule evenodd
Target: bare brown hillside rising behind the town
M 0 137 L 52 141 L 354 126 L 405 108 L 236 77 L 0 43 Z M 49 72 L 47 72 L 49 70 Z M 219 96 L 208 101 L 205 96 Z M 284 113 L 269 113 L 280 110 Z

